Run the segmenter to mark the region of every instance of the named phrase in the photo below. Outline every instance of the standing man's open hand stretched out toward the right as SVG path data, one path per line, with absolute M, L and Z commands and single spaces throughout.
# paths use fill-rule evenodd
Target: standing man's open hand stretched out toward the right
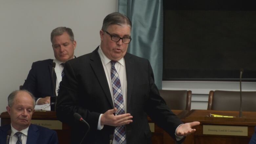
M 192 134 L 196 131 L 196 129 L 192 129 L 192 127 L 199 125 L 200 122 L 194 121 L 190 123 L 184 123 L 176 130 L 176 135 L 178 136 L 187 136 L 189 134 Z

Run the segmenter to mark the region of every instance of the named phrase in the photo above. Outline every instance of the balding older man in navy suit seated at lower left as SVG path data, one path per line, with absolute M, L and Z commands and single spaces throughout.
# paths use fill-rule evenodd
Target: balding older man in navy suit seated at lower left
M 55 131 L 31 124 L 34 113 L 34 96 L 26 91 L 14 91 L 8 96 L 6 107 L 11 124 L 0 127 L 0 144 L 58 144 Z M 10 138 L 7 133 L 11 130 Z

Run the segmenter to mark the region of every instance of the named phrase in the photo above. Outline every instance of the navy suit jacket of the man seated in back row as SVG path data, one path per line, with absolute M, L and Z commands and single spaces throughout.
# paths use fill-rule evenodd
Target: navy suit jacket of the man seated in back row
M 33 62 L 28 77 L 23 84 L 22 89 L 31 92 L 36 99 L 46 96 L 53 96 L 53 82 L 56 86 L 56 74 L 53 72 L 53 82 L 51 79 L 53 59 Z

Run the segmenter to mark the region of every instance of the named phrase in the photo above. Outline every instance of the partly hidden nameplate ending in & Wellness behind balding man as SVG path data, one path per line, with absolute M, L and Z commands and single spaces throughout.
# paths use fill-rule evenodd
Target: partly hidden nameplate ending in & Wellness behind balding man
M 34 125 L 49 128 L 51 130 L 62 130 L 62 122 L 58 120 L 31 120 Z

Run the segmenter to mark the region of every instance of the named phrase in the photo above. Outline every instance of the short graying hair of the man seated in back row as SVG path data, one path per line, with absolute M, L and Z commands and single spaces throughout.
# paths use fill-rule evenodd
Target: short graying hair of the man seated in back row
M 64 32 L 67 32 L 69 35 L 70 41 L 74 42 L 74 33 L 70 28 L 67 28 L 67 27 L 58 27 L 58 28 L 54 29 L 51 32 L 51 42 L 53 43 L 54 36 L 62 35 Z

